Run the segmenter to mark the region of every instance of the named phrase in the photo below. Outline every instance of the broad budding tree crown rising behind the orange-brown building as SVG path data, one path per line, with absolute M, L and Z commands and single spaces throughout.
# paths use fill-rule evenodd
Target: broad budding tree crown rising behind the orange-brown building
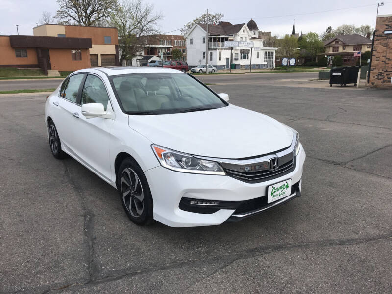
M 110 16 L 117 0 L 57 0 L 55 18 L 62 24 L 101 25 Z

